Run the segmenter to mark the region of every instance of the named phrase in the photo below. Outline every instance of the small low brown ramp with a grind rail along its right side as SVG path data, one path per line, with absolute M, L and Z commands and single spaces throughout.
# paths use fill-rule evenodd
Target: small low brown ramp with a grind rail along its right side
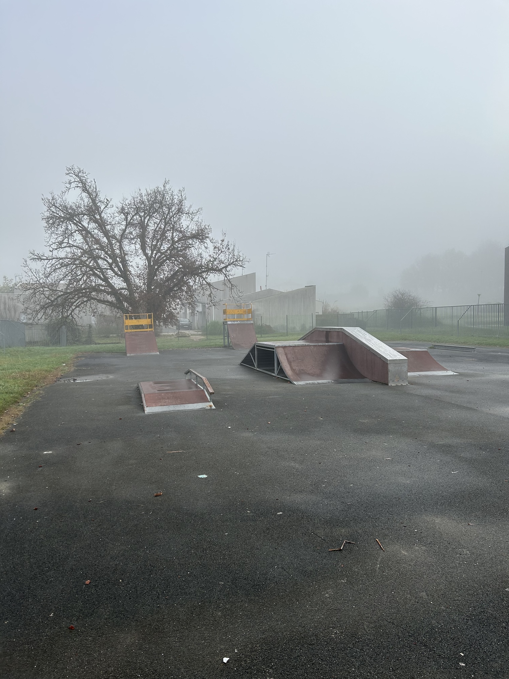
M 210 394 L 213 394 L 214 390 L 206 378 L 191 370 L 186 371 L 185 374 L 191 374 L 191 378 L 161 382 L 138 382 L 138 390 L 145 413 L 214 408 L 214 404 L 210 401 Z M 198 380 L 202 380 L 204 386 L 197 384 Z

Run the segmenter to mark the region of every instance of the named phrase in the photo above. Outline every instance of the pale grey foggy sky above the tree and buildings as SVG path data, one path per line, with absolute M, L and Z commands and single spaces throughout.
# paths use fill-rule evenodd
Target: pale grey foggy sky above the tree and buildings
M 269 287 L 344 310 L 502 301 L 505 0 L 17 0 L 0 26 L 0 276 L 77 164 L 114 200 L 185 186 L 258 285 L 269 251 Z

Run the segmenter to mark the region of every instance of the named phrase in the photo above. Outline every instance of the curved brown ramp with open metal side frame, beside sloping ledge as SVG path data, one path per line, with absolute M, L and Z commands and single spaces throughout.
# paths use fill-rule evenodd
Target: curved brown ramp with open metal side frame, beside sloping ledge
M 257 342 L 240 365 L 293 384 L 369 382 L 340 343 Z

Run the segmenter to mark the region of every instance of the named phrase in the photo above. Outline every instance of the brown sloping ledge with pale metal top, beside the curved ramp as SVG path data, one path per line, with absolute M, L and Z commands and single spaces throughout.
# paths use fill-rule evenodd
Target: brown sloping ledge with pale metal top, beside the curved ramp
M 364 377 L 390 386 L 408 384 L 407 357 L 358 327 L 317 327 L 300 342 L 341 342 Z

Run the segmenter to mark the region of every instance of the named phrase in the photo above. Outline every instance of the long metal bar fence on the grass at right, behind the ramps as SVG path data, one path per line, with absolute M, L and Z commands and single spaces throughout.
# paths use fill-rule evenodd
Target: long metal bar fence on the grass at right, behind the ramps
M 500 337 L 509 336 L 509 304 L 464 304 L 316 314 L 316 325 L 350 325 L 368 332 Z

